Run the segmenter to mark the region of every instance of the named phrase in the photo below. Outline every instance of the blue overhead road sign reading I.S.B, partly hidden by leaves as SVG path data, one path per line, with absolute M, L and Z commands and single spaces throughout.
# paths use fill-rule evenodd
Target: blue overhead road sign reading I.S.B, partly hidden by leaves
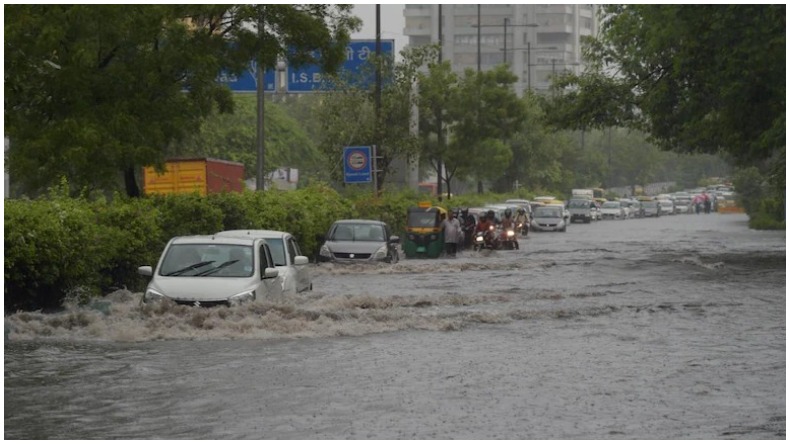
M 394 40 L 381 40 L 381 53 L 387 57 L 392 57 L 395 47 Z M 376 54 L 375 40 L 353 40 L 346 47 L 346 61 L 340 68 L 340 73 L 357 75 L 362 72 L 362 67 L 368 62 L 372 55 Z M 325 90 L 327 85 L 323 83 L 323 73 L 317 65 L 306 65 L 301 68 L 286 69 L 286 89 L 288 92 L 313 92 Z M 372 77 L 372 74 L 371 74 Z M 356 85 L 366 87 L 373 83 L 373 78 L 358 80 Z M 329 85 L 331 89 L 331 85 Z

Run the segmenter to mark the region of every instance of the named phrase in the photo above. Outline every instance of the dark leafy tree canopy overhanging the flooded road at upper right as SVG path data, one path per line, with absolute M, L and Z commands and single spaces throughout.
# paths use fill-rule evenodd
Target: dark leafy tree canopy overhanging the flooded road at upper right
M 566 127 L 617 122 L 666 150 L 723 150 L 737 164 L 775 158 L 783 165 L 784 5 L 602 11 L 600 37 L 585 51 L 597 71 L 559 79 L 556 86 L 569 93 L 554 107 L 556 121 Z

